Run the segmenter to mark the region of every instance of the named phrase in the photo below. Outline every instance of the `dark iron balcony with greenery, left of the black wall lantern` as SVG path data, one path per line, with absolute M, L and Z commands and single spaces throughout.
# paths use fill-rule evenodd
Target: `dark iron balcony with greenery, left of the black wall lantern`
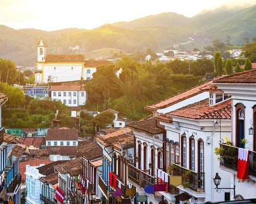
M 204 172 L 195 172 L 178 164 L 172 164 L 172 175 L 181 175 L 181 185 L 192 191 L 204 192 Z

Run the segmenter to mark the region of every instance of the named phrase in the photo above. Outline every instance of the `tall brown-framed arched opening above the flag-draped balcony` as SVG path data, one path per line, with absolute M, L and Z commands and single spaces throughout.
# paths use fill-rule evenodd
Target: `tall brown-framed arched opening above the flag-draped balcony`
M 243 104 L 236 105 L 236 146 L 243 148 L 243 144 L 241 144 L 241 139 L 244 138 L 244 118 L 245 118 L 245 106 Z

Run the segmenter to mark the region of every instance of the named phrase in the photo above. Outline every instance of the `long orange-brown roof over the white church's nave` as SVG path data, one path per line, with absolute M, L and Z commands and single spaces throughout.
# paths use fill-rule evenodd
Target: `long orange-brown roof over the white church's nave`
M 84 55 L 46 55 L 46 63 L 84 62 Z

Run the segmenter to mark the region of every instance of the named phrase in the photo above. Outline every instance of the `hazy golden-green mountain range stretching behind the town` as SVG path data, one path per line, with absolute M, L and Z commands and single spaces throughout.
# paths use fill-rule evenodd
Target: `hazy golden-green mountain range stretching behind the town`
M 180 49 L 203 49 L 215 39 L 226 42 L 227 36 L 231 44 L 243 44 L 245 36 L 249 39 L 256 36 L 255 25 L 256 5 L 246 9 L 223 6 L 191 18 L 161 13 L 130 22 L 105 24 L 93 30 L 70 28 L 47 32 L 0 25 L 0 58 L 11 59 L 16 65 L 35 66 L 36 44 L 41 37 L 47 43 L 48 54 L 86 54 L 102 48 L 129 52 L 145 52 L 151 48 L 160 52 L 178 45 Z M 190 37 L 194 41 L 189 41 Z M 70 49 L 76 45 L 81 49 Z

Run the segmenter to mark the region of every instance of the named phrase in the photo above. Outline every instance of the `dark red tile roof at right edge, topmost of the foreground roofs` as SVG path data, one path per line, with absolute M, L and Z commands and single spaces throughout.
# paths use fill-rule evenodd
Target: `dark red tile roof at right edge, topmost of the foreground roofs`
M 255 84 L 256 83 L 256 69 L 251 69 L 248 71 L 234 73 L 232 75 L 223 76 L 219 79 L 213 81 L 213 83 L 246 83 Z

